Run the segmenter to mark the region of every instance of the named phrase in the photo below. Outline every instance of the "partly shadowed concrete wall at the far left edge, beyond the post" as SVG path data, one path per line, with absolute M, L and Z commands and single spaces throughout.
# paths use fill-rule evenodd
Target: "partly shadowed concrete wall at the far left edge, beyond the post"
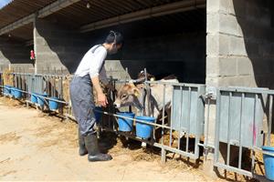
M 20 42 L 0 38 L 0 71 L 11 68 L 17 72 L 33 73 L 34 65 L 29 59 L 29 52 Z

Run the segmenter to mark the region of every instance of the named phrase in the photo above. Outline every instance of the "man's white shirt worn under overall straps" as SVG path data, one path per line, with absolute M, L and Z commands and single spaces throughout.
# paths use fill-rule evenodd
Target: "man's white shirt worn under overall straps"
M 108 84 L 109 81 L 104 67 L 104 61 L 107 54 L 107 49 L 104 46 L 92 46 L 80 61 L 75 76 L 90 75 L 90 78 L 99 76 L 99 79 L 103 84 Z

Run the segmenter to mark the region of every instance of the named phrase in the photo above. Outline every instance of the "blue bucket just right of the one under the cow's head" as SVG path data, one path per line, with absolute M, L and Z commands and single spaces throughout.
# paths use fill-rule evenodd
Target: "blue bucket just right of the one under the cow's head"
M 136 119 L 154 123 L 155 118 L 151 116 L 136 116 Z M 142 124 L 136 120 L 136 136 L 147 139 L 152 136 L 153 126 Z

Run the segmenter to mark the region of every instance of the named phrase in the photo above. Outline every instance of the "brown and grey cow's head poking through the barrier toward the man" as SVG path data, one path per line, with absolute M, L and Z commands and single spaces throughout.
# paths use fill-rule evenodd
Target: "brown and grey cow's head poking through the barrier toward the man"
M 116 99 L 114 101 L 114 106 L 119 108 L 123 106 L 136 106 L 141 108 L 139 101 L 140 90 L 133 84 L 125 84 L 119 89 Z

